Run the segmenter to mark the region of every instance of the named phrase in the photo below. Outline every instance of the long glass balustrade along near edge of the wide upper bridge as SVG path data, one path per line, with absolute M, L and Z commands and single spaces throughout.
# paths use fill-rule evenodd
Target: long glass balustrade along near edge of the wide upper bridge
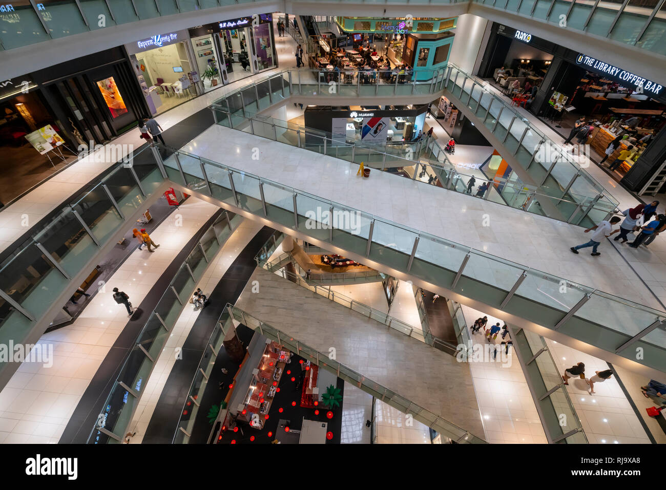
M 171 161 L 177 164 L 178 160 Z M 639 364 L 666 371 L 666 352 L 663 348 L 663 340 L 666 339 L 662 338 L 664 330 L 657 328 L 661 326 L 661 320 L 666 319 L 666 312 L 646 308 L 224 164 L 208 164 L 218 168 L 218 174 L 226 175 L 228 180 L 225 182 L 232 187 L 234 182 L 244 181 L 243 189 L 248 194 L 241 194 L 236 188 L 235 196 L 232 193 L 232 197 L 228 198 L 233 206 L 297 230 L 312 237 L 315 242 L 319 240 L 356 254 L 359 260 L 367 257 L 545 328 L 616 352 Z M 183 172 L 182 168 L 178 171 Z M 215 182 L 209 184 L 217 185 Z M 251 200 L 258 202 L 250 205 Z M 312 206 L 332 209 L 338 215 L 353 214 L 355 226 L 352 226 L 352 220 L 338 220 L 329 229 L 328 220 L 316 218 Z M 308 218 L 312 221 L 306 225 Z M 633 344 L 643 346 L 651 355 L 634 359 Z

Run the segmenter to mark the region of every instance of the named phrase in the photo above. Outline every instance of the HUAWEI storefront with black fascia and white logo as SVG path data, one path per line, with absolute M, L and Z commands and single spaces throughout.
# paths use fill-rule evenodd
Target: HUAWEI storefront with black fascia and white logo
M 427 105 L 419 106 L 308 106 L 304 112 L 306 143 L 319 140 L 314 131 L 333 140 L 332 144 L 362 146 L 402 144 L 416 140 L 426 121 Z

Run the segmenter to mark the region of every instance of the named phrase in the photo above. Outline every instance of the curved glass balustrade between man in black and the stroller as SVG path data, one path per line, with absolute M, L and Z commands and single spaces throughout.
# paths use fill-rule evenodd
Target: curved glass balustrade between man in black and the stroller
M 242 220 L 240 216 L 234 215 L 231 221 L 234 218 Z M 236 225 L 238 220 L 236 220 Z M 220 211 L 213 224 L 192 246 L 192 250 L 178 272 L 166 286 L 157 306 L 149 313 L 148 321 L 137 336 L 135 347 L 123 363 L 120 374 L 113 383 L 113 389 L 103 405 L 104 409 L 96 427 L 89 435 L 88 443 L 115 444 L 123 440 L 123 435 L 132 421 L 143 389 L 172 333 L 178 316 L 192 297 L 196 283 L 202 278 L 209 260 L 213 258 L 213 250 L 219 250 L 226 238 L 230 236 L 230 234 L 225 234 L 224 239 L 220 240 L 218 238 L 220 231 L 229 230 L 230 227 L 234 227 L 234 224 L 230 222 L 228 213 Z M 208 258 L 206 258 L 204 250 L 208 250 L 210 253 Z M 216 338 L 214 342 L 217 346 L 216 352 L 218 352 L 222 341 L 220 338 Z

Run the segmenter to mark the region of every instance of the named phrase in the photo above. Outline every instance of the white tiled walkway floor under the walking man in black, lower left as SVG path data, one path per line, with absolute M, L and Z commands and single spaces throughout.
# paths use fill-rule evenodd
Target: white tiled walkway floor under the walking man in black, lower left
M 151 233 L 156 252 L 135 250 L 70 326 L 44 334 L 53 366 L 24 362 L 0 391 L 0 443 L 57 443 L 81 395 L 127 324 L 111 289 L 125 291 L 135 307 L 182 247 L 218 208 L 190 198 Z M 176 226 L 176 216 L 182 226 Z

